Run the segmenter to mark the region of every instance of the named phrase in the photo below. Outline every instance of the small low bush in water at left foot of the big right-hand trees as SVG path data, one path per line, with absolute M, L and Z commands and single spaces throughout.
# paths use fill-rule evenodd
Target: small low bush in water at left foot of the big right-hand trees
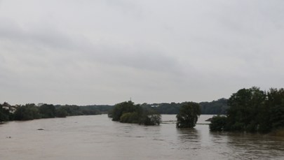
M 209 124 L 210 131 L 224 131 L 226 129 L 226 117 L 214 116 Z

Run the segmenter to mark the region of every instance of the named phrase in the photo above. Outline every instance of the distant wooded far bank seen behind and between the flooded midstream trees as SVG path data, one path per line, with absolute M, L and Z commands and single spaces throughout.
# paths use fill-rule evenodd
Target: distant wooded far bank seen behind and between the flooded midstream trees
M 201 114 L 210 115 L 224 115 L 229 106 L 226 105 L 227 99 L 219 99 L 212 102 L 201 102 Z M 186 103 L 186 102 L 184 102 Z M 184 103 L 142 103 L 140 107 L 151 108 L 159 114 L 178 114 L 180 108 Z M 14 108 L 11 110 L 8 108 Z M 11 120 L 30 120 L 40 118 L 53 118 L 53 117 L 67 117 L 74 115 L 97 115 L 109 113 L 115 106 L 109 105 L 90 105 L 90 106 L 76 106 L 76 105 L 52 105 L 43 104 L 36 106 L 34 103 L 27 103 L 25 105 L 11 106 L 8 103 L 0 104 L 0 122 Z M 13 112 L 11 112 L 13 111 Z

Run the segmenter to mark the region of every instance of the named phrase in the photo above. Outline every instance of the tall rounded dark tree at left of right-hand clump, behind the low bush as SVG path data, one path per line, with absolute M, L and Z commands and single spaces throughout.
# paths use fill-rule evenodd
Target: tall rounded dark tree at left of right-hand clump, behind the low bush
M 228 100 L 228 105 L 230 106 L 227 112 L 228 130 L 259 131 L 259 124 L 263 121 L 261 113 L 266 108 L 265 100 L 266 93 L 257 87 L 240 89 L 235 94 L 232 94 Z

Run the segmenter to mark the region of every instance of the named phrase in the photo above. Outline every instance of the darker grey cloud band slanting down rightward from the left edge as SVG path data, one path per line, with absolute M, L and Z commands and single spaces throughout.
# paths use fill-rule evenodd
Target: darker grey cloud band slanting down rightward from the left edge
M 0 23 L 1 39 L 11 41 L 11 43 L 23 43 L 32 48 L 50 48 L 49 54 L 57 52 L 58 49 L 64 50 L 67 60 L 60 59 L 63 64 L 68 61 L 92 59 L 94 62 L 99 61 L 109 65 L 128 66 L 150 71 L 171 71 L 172 73 L 179 71 L 178 62 L 173 57 L 166 56 L 156 49 L 151 50 L 153 48 L 151 46 L 92 44 L 88 39 L 71 37 L 60 33 L 60 31 L 48 29 L 30 31 L 31 29 L 21 29 L 13 22 L 0 21 L 2 22 Z M 150 49 L 147 49 L 149 47 Z M 39 54 L 41 53 L 39 52 Z M 86 55 L 90 59 L 85 60 L 83 57 Z

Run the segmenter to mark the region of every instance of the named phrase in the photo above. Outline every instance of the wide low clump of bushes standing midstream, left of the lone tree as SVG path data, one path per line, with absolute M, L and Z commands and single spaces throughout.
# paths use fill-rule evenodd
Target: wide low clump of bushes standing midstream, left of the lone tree
M 109 117 L 123 123 L 158 125 L 161 122 L 161 115 L 154 108 L 145 104 L 135 105 L 132 101 L 116 104 L 109 111 Z

